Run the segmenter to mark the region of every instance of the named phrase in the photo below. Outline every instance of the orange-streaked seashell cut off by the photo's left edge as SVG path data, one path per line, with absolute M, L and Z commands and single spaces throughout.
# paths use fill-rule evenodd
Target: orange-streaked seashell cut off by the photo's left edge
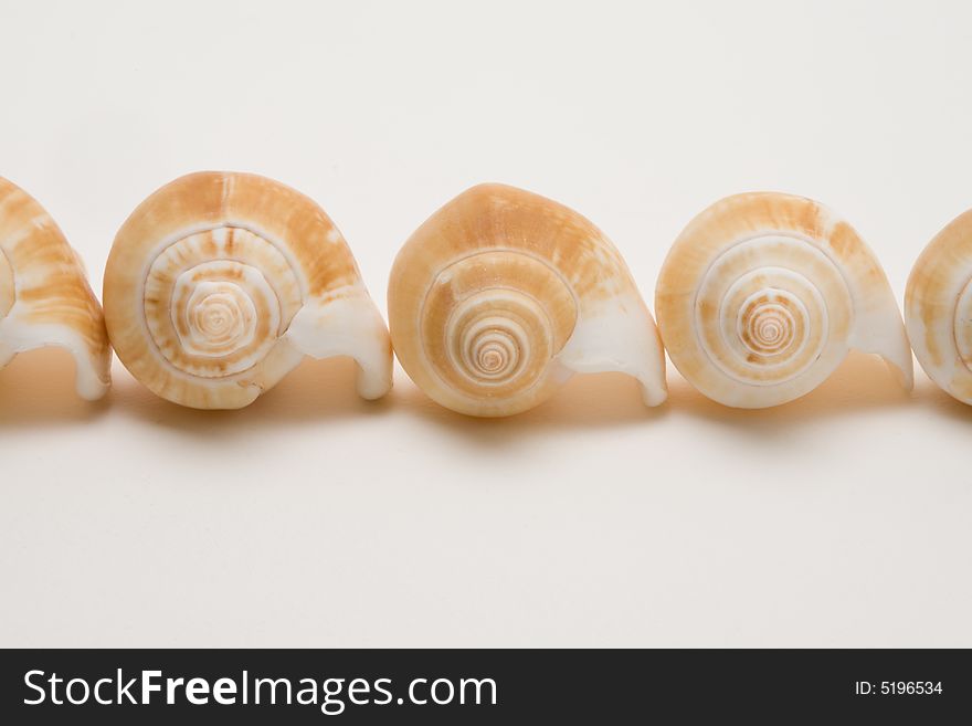
M 107 392 L 112 350 L 84 265 L 44 208 L 0 178 L 0 368 L 44 346 L 74 357 L 82 398 Z

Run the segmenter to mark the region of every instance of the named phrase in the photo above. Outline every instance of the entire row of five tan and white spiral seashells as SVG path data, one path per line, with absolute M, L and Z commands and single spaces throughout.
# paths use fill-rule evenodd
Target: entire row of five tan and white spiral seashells
M 913 348 L 936 383 L 972 403 L 972 211 L 918 259 L 907 334 L 854 229 L 769 192 L 689 222 L 658 277 L 658 327 L 596 227 L 501 185 L 463 192 L 405 242 L 389 327 L 324 210 L 250 173 L 193 173 L 156 191 L 119 230 L 104 283 L 103 312 L 51 217 L 0 179 L 0 367 L 62 346 L 87 399 L 108 389 L 112 347 L 155 393 L 199 409 L 244 407 L 305 356 L 352 357 L 359 393 L 380 398 L 394 349 L 436 402 L 490 417 L 537 406 L 575 372 L 633 376 L 656 406 L 664 350 L 731 407 L 803 396 L 852 348 L 881 356 L 910 388 Z

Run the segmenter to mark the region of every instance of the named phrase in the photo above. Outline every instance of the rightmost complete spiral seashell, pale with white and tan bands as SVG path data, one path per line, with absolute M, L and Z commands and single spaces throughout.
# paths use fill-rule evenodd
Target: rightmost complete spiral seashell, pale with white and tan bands
M 850 348 L 881 356 L 911 388 L 911 350 L 880 264 L 810 199 L 744 193 L 701 212 L 665 260 L 655 313 L 675 367 L 726 406 L 792 401 Z

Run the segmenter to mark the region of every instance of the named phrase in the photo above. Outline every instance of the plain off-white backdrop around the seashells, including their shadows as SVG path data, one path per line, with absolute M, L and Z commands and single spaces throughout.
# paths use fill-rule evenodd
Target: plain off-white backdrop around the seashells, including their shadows
M 900 299 L 972 204 L 964 2 L 0 1 L 0 175 L 91 271 L 170 179 L 321 203 L 384 311 L 400 244 L 479 181 L 599 224 L 651 302 L 694 214 L 820 199 Z M 2 645 L 972 645 L 972 408 L 853 356 L 742 412 L 578 377 L 499 421 L 310 361 L 183 410 L 117 362 L 0 373 Z

